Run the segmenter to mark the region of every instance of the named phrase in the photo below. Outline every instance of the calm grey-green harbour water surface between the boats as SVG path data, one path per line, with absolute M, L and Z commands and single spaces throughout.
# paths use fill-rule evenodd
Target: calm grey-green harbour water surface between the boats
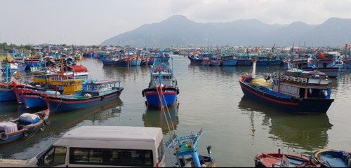
M 218 167 L 253 167 L 258 153 L 277 152 L 308 157 L 314 151 L 334 148 L 351 152 L 351 73 L 333 78 L 331 97 L 335 102 L 327 113 L 292 115 L 243 97 L 238 79 L 250 67 L 206 67 L 190 64 L 187 57 L 172 55 L 180 94 L 178 106 L 169 109 L 176 134 L 204 134 L 198 146 L 211 155 Z M 171 62 L 171 60 L 170 60 Z M 0 158 L 26 160 L 48 148 L 65 132 L 81 125 L 124 125 L 162 127 L 168 140 L 166 119 L 159 110 L 147 109 L 141 91 L 150 80 L 150 68 L 103 66 L 100 59 L 79 61 L 93 79 L 120 79 L 124 91 L 119 99 L 80 111 L 51 113 L 50 125 L 26 141 L 0 146 Z M 277 71 L 258 67 L 258 76 Z M 0 120 L 27 112 L 15 103 L 0 104 Z M 166 152 L 168 165 L 175 162 Z

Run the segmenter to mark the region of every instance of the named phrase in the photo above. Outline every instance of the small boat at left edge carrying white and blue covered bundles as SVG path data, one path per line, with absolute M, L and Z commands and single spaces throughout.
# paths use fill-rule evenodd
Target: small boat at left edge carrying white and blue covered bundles
M 49 113 L 49 109 L 37 113 L 22 113 L 20 118 L 0 123 L 0 145 L 35 134 L 40 127 L 48 125 Z

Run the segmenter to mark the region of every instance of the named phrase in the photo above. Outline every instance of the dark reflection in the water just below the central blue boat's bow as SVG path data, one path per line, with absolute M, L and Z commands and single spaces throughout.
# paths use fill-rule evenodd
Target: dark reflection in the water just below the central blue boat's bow
M 168 107 L 164 111 L 156 108 L 147 107 L 145 113 L 143 114 L 143 122 L 145 127 L 161 127 L 164 134 L 168 133 L 168 126 L 173 131 L 177 130 L 177 125 L 179 123 L 178 119 L 178 106 Z M 167 125 L 168 123 L 168 125 Z M 173 127 L 172 127 L 173 125 Z

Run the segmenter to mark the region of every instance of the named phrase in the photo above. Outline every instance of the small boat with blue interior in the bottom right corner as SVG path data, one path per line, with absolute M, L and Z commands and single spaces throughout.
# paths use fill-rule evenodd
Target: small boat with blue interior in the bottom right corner
M 333 149 L 317 151 L 312 155 L 317 167 L 351 167 L 351 153 Z

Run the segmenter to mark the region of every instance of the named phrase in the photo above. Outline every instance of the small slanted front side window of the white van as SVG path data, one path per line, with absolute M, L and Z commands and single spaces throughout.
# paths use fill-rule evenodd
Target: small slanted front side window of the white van
M 46 155 L 42 166 L 57 166 L 65 164 L 67 148 L 62 146 L 53 146 Z

